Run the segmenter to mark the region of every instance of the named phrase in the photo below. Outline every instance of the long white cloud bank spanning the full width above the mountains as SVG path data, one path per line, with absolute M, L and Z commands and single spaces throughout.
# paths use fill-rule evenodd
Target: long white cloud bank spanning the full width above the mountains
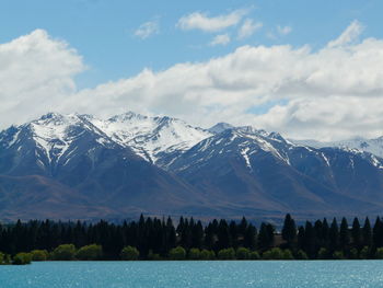
M 217 122 L 254 125 L 295 138 L 383 135 L 383 39 L 318 50 L 243 46 L 209 61 L 177 64 L 160 72 L 144 69 L 74 93 L 81 58 L 47 35 L 31 35 L 0 46 L 0 67 L 5 67 L 0 70 L 2 125 L 46 111 L 109 116 L 131 110 L 205 127 Z M 49 53 L 47 44 L 54 47 Z M 22 57 L 10 57 L 4 46 Z M 34 105 L 40 101 L 46 101 L 44 106 Z M 266 106 L 271 108 L 264 111 Z

